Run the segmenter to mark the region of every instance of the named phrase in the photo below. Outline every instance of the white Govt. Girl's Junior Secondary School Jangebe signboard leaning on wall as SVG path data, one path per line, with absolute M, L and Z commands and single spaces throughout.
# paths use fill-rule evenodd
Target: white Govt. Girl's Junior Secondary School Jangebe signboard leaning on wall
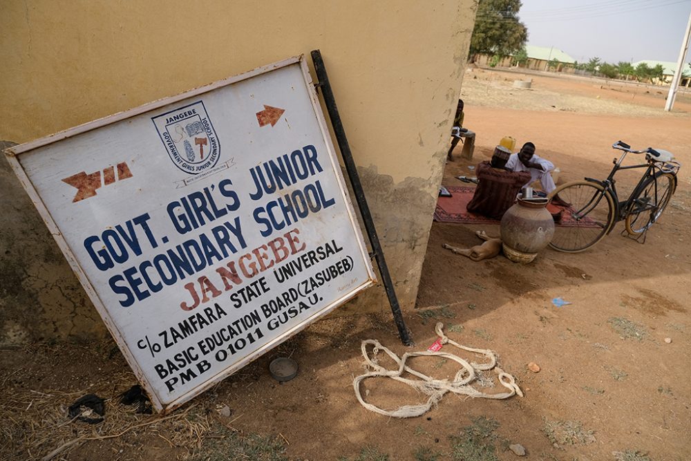
M 374 283 L 303 57 L 8 159 L 158 410 Z

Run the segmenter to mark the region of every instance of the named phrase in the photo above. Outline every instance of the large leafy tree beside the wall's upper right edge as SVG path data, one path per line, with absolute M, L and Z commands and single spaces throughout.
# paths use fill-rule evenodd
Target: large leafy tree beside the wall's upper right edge
M 470 55 L 511 56 L 528 39 L 528 30 L 518 20 L 520 0 L 480 0 L 471 37 Z

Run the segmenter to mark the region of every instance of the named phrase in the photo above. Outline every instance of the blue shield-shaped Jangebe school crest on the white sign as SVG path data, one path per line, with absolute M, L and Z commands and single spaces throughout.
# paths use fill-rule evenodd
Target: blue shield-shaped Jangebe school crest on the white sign
M 151 117 L 176 167 L 189 174 L 213 168 L 220 157 L 220 142 L 204 102 Z

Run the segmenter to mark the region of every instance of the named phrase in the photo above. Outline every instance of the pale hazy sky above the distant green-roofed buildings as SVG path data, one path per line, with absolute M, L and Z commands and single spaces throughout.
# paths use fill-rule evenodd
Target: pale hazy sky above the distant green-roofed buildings
M 691 0 L 522 0 L 527 44 L 554 46 L 578 62 L 675 62 Z M 685 62 L 691 61 L 687 53 Z

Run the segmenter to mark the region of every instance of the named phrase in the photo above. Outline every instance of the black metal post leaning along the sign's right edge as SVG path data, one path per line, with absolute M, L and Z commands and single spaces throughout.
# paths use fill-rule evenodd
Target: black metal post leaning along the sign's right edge
M 348 138 L 345 137 L 345 129 L 343 129 L 343 123 L 341 123 L 339 109 L 336 106 L 336 99 L 334 98 L 334 93 L 331 91 L 329 77 L 326 73 L 326 68 L 324 66 L 323 59 L 321 59 L 321 52 L 319 50 L 312 51 L 312 62 L 314 63 L 314 70 L 316 70 L 316 77 L 319 79 L 318 86 L 321 88 L 324 102 L 326 104 L 326 110 L 329 113 L 331 125 L 334 129 L 334 134 L 336 135 L 336 140 L 339 143 L 339 149 L 341 149 L 341 156 L 343 157 L 343 163 L 345 163 L 345 171 L 348 172 L 348 178 L 350 178 L 350 184 L 352 185 L 352 190 L 355 194 L 355 200 L 357 200 L 357 205 L 360 209 L 360 214 L 362 216 L 367 235 L 370 238 L 372 251 L 375 253 L 375 259 L 377 260 L 377 265 L 379 265 L 379 274 L 381 274 L 381 281 L 384 283 L 386 296 L 388 297 L 389 304 L 391 305 L 391 312 L 393 313 L 393 319 L 398 328 L 399 337 L 406 346 L 413 346 L 413 339 L 410 338 L 410 332 L 408 331 L 408 327 L 406 327 L 406 322 L 404 321 L 403 314 L 401 313 L 401 306 L 398 303 L 398 298 L 396 297 L 396 292 L 393 288 L 393 283 L 391 282 L 391 276 L 388 272 L 386 259 L 384 259 L 384 251 L 381 250 L 381 245 L 379 244 L 377 229 L 375 229 L 375 223 L 372 220 L 372 214 L 370 214 L 370 208 L 367 205 L 365 193 L 362 190 L 360 177 L 357 174 L 357 167 L 355 166 L 354 160 L 352 160 L 352 153 L 350 152 Z

